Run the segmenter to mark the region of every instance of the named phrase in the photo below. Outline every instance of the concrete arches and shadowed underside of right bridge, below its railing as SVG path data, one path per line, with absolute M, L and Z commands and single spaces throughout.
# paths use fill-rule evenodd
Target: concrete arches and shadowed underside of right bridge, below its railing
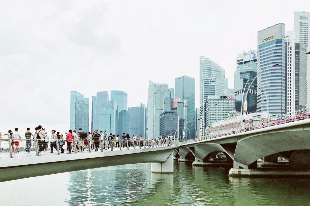
M 307 120 L 309 122 L 309 120 Z M 310 175 L 310 122 L 264 132 L 182 145 L 179 155 L 193 165 L 232 166 L 230 175 Z

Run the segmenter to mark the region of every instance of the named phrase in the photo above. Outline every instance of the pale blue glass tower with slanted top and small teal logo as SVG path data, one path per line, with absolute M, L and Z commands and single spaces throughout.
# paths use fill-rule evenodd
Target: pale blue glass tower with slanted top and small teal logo
M 98 96 L 97 96 L 98 99 Z M 98 102 L 97 102 L 98 103 Z M 98 104 L 97 104 L 98 106 Z M 115 100 L 105 102 L 101 105 L 100 110 L 96 111 L 98 117 L 98 131 L 107 131 L 107 134 L 115 134 L 117 126 L 117 103 Z M 99 114 L 98 114 L 99 113 Z

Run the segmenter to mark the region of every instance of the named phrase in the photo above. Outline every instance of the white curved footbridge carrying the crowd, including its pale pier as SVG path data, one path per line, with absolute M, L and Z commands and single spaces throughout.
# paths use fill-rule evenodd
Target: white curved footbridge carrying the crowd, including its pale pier
M 8 141 L 8 140 L 7 140 Z M 8 141 L 9 142 L 9 141 Z M 2 139 L 2 148 L 5 139 Z M 152 172 L 173 172 L 173 151 L 179 147 L 178 140 L 148 145 L 140 141 L 129 149 L 112 148 L 111 150 L 84 150 L 72 154 L 52 154 L 48 152 L 2 152 L 0 153 L 0 182 L 56 174 L 76 170 L 86 170 L 114 165 L 152 162 Z M 146 146 L 148 145 L 148 146 Z M 35 146 L 34 146 L 35 148 Z M 36 154 L 37 153 L 37 154 Z

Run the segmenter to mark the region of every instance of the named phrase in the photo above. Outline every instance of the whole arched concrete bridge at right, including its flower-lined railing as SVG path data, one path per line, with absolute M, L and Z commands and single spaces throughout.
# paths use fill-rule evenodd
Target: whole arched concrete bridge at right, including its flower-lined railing
M 303 109 L 185 141 L 177 149 L 179 161 L 192 160 L 193 165 L 231 164 L 230 175 L 309 175 L 309 111 Z M 226 158 L 220 158 L 221 154 Z M 257 169 L 259 159 L 277 165 L 278 157 L 286 160 L 280 164 L 286 169 Z

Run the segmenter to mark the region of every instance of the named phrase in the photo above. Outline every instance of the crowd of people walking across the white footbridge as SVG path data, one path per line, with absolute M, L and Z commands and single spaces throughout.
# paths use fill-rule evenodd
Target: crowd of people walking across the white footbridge
M 140 147 L 147 145 L 148 147 L 152 147 L 154 144 L 157 144 L 158 146 L 161 143 L 167 142 L 167 144 L 171 143 L 171 140 L 174 138 L 163 137 L 163 139 L 155 138 L 155 139 L 149 139 L 148 141 L 143 139 L 143 135 L 138 137 L 137 135 L 133 135 L 130 137 L 129 134 L 123 133 L 122 137 L 119 135 L 115 135 L 110 133 L 110 135 L 107 135 L 107 131 L 100 131 L 98 130 L 91 132 L 84 132 L 82 128 L 79 128 L 79 131 L 77 132 L 75 129 L 72 131 L 71 129 L 68 132 L 65 132 L 65 135 L 60 134 L 59 131 L 56 132 L 56 130 L 51 131 L 51 135 L 49 136 L 47 131 L 39 125 L 35 128 L 35 132 L 32 133 L 30 131 L 30 128 L 27 128 L 27 131 L 25 132 L 25 138 L 23 139 L 20 135 L 20 132 L 18 131 L 18 128 L 15 128 L 15 132 L 12 132 L 11 130 L 8 131 L 8 135 L 10 135 L 11 139 L 11 147 L 13 153 L 19 153 L 19 144 L 23 140 L 26 141 L 26 152 L 30 152 L 30 148 L 32 147 L 32 141 L 34 141 L 35 138 L 38 140 L 38 152 L 46 152 L 48 148 L 48 143 L 50 142 L 50 152 L 53 153 L 53 150 L 56 149 L 57 151 L 57 145 L 58 149 L 60 150 L 60 153 L 64 153 L 65 149 L 68 151 L 68 154 L 71 154 L 75 150 L 77 152 L 83 152 L 85 149 L 93 150 L 95 149 L 95 152 L 97 152 L 99 149 L 107 150 L 110 147 L 112 148 L 126 148 L 129 149 L 131 146 L 139 145 Z M 2 133 L 0 132 L 0 149 L 1 149 L 1 138 Z M 140 142 L 139 142 L 140 140 Z M 58 144 L 57 144 L 58 142 Z M 139 143 L 138 143 L 139 142 Z M 144 145 L 145 144 L 145 145 Z M 65 146 L 66 145 L 66 146 Z

